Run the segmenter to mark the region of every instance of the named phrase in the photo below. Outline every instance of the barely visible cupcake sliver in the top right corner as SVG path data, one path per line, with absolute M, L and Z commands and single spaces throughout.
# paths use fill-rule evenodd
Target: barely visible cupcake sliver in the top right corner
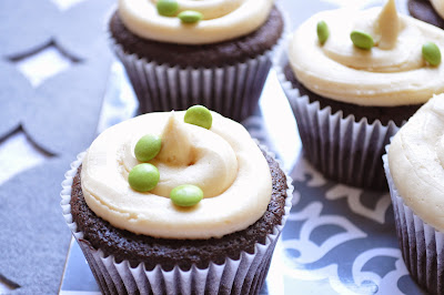
M 408 0 L 412 17 L 444 29 L 444 3 L 441 0 Z

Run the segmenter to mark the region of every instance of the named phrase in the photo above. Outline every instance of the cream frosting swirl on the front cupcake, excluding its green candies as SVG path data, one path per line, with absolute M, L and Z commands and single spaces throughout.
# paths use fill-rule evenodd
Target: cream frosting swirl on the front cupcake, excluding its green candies
M 266 211 L 270 169 L 239 123 L 212 112 L 210 130 L 183 122 L 184 112 L 149 113 L 117 124 L 91 144 L 82 163 L 88 206 L 113 226 L 163 238 L 220 237 L 246 228 Z M 128 183 L 140 164 L 134 146 L 159 134 L 160 153 L 150 163 L 160 172 L 154 190 L 140 193 Z M 181 184 L 202 189 L 204 199 L 179 207 L 169 199 Z

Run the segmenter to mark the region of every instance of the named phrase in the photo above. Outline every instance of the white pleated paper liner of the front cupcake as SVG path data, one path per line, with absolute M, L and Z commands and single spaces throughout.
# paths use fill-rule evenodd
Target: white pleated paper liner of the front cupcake
M 264 149 L 264 146 L 261 146 Z M 266 149 L 264 149 L 266 151 Z M 268 152 L 270 155 L 272 153 Z M 274 246 L 290 214 L 293 197 L 292 180 L 287 181 L 287 197 L 285 214 L 280 225 L 266 236 L 265 244 L 258 243 L 254 253 L 242 252 L 239 260 L 226 258 L 222 265 L 211 263 L 206 268 L 195 265 L 189 271 L 174 266 L 164 271 L 157 265 L 147 271 L 143 263 L 132 267 L 128 261 L 117 262 L 114 256 L 107 256 L 101 250 L 95 250 L 83 240 L 71 215 L 71 185 L 84 153 L 78 155 L 65 173 L 62 182 L 61 206 L 63 216 L 73 236 L 78 241 L 89 266 L 103 294 L 258 294 L 270 267 Z M 274 155 L 273 155 L 274 157 Z

